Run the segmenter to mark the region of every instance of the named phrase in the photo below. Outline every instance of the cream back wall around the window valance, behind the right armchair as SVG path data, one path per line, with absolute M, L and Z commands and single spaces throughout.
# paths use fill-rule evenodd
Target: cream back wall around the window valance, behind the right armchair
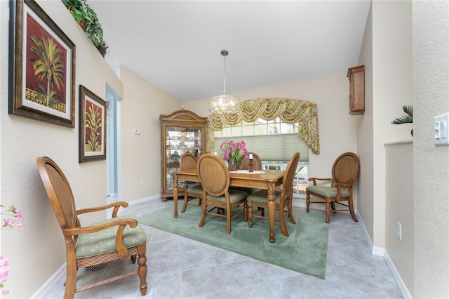
M 348 65 L 353 67 L 354 65 Z M 320 154 L 309 152 L 309 176 L 328 178 L 335 159 L 343 152 L 357 153 L 356 121 L 349 115 L 349 80 L 347 69 L 341 74 L 319 79 L 267 86 L 251 91 L 232 93 L 243 100 L 253 98 L 295 98 L 316 102 L 320 131 Z M 208 99 L 183 103 L 186 109 L 208 117 Z M 362 166 L 363 167 L 363 166 Z M 354 206 L 357 207 L 357 192 L 354 191 Z M 295 199 L 295 201 L 304 201 Z M 350 217 L 348 215 L 348 217 Z

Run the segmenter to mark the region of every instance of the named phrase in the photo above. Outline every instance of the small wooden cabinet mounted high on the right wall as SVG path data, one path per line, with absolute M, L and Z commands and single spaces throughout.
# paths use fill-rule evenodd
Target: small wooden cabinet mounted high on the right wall
M 365 112 L 365 66 L 349 67 L 349 114 Z

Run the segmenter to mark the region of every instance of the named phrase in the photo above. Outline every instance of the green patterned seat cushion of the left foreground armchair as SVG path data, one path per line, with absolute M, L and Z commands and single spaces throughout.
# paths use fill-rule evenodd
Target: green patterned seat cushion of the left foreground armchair
M 91 226 L 129 218 L 137 220 L 134 216 L 120 216 L 97 222 Z M 118 229 L 119 226 L 117 225 L 100 232 L 80 234 L 75 246 L 76 258 L 88 258 L 90 256 L 116 251 L 115 236 Z M 127 248 L 145 243 L 147 243 L 147 234 L 145 234 L 140 224 L 135 228 L 130 228 L 129 225 L 126 226 L 123 232 L 123 244 L 125 244 Z

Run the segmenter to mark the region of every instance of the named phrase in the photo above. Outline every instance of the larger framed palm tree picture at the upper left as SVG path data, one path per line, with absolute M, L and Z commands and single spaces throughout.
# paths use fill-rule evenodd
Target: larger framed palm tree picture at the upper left
M 8 114 L 75 127 L 74 43 L 33 0 L 10 1 Z

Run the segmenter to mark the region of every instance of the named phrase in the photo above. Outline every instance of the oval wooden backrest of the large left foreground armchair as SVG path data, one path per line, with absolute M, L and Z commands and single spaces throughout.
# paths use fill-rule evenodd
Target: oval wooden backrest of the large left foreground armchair
M 61 230 L 79 227 L 72 189 L 62 170 L 48 157 L 38 157 L 36 164 Z

